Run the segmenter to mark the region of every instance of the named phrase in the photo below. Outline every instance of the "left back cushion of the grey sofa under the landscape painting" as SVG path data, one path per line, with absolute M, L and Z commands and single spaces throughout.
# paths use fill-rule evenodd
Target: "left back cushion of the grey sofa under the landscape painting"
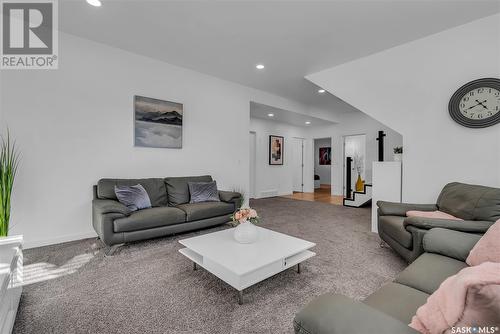
M 167 188 L 161 178 L 151 179 L 101 179 L 97 183 L 97 197 L 117 201 L 115 186 L 135 186 L 140 184 L 148 193 L 153 207 L 167 205 Z

